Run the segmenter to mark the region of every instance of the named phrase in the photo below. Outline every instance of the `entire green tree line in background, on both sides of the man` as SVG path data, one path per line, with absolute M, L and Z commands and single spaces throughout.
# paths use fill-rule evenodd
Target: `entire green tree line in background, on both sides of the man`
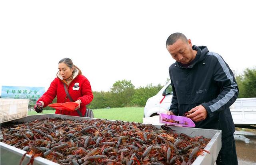
M 166 83 L 169 81 L 168 79 Z M 256 97 L 256 69 L 247 68 L 236 76 L 239 88 L 238 98 Z M 163 85 L 148 84 L 135 88 L 131 81 L 116 81 L 110 91 L 93 91 L 94 99 L 87 106 L 91 109 L 106 107 L 144 107 L 148 98 L 156 95 Z

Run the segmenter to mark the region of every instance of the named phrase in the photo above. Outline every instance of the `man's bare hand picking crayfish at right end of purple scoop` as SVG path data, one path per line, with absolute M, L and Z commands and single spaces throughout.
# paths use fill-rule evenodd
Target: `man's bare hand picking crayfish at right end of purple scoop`
M 202 121 L 206 119 L 207 117 L 207 111 L 202 105 L 198 105 L 194 108 L 192 108 L 188 113 L 191 113 L 190 115 L 187 115 L 186 117 L 192 119 L 193 121 Z

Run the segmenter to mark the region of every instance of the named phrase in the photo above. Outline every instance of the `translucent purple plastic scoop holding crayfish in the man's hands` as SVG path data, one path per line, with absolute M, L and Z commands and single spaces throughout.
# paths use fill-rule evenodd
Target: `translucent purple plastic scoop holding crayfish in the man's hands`
M 162 124 L 180 126 L 180 127 L 196 127 L 195 123 L 188 117 L 167 115 L 165 113 L 158 113 L 160 115 L 159 122 Z

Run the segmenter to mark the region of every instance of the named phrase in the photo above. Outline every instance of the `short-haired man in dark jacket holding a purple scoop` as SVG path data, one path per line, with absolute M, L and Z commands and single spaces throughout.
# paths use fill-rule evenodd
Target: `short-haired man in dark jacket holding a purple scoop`
M 222 57 L 206 46 L 192 46 L 184 34 L 171 34 L 166 48 L 176 60 L 169 68 L 173 90 L 168 115 L 183 115 L 195 121 L 196 127 L 222 130 L 222 148 L 217 165 L 237 165 L 230 105 L 238 96 L 232 71 Z

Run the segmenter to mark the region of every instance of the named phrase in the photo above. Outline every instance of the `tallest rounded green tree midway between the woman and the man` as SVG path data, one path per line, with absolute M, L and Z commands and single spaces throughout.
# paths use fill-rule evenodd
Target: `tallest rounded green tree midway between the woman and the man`
M 131 81 L 116 81 L 110 92 L 112 93 L 113 107 L 124 107 L 129 105 L 134 94 L 134 85 Z

